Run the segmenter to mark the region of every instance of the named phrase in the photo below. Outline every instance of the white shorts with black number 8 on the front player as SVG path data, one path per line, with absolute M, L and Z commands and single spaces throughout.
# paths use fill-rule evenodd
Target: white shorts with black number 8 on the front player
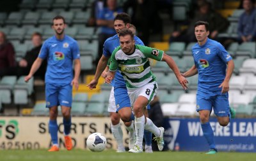
M 149 102 L 152 101 L 155 95 L 157 94 L 158 87 L 156 81 L 153 81 L 152 83 L 148 83 L 143 87 L 136 89 L 128 88 L 127 90 L 131 100 L 131 105 L 134 104 L 134 102 L 140 95 L 146 97 L 148 99 L 149 104 Z

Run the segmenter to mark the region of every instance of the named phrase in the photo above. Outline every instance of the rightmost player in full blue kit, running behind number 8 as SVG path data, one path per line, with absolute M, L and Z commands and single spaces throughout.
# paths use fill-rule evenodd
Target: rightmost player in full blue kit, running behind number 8
M 210 146 L 207 154 L 215 154 L 217 148 L 209 117 L 213 109 L 223 127 L 228 125 L 231 117 L 234 118 L 235 113 L 228 102 L 228 82 L 234 70 L 234 62 L 220 43 L 208 38 L 208 22 L 195 23 L 195 36 L 198 41 L 192 47 L 195 65 L 183 75 L 189 77 L 198 73 L 196 111 L 199 113 L 204 137 Z

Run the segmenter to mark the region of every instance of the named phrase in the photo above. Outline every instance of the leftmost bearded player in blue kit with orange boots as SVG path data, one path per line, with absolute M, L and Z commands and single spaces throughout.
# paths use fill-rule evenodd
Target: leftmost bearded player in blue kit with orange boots
M 65 19 L 56 16 L 52 19 L 52 29 L 55 35 L 47 39 L 33 63 L 25 81 L 33 76 L 44 59 L 47 59 L 47 71 L 45 74 L 46 107 L 49 108 L 49 131 L 52 139 L 52 147 L 48 151 L 59 151 L 58 145 L 58 106 L 61 106 L 63 115 L 65 147 L 72 150 L 72 138 L 70 134 L 72 107 L 72 86 L 78 88 L 78 79 L 81 71 L 80 53 L 77 41 L 65 35 Z M 73 76 L 74 61 L 74 76 Z

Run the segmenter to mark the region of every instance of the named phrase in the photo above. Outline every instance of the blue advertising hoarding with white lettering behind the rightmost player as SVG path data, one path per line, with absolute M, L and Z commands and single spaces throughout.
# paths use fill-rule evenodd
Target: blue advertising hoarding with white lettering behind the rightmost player
M 256 152 L 256 119 L 232 119 L 227 127 L 210 120 L 218 151 Z M 169 150 L 208 151 L 199 118 L 165 118 L 164 143 Z

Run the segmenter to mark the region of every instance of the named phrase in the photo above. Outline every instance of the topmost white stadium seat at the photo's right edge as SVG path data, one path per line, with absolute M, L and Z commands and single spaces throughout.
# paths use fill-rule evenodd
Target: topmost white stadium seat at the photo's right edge
M 254 75 L 256 74 L 256 59 L 246 59 L 242 67 L 239 69 L 240 75 Z

